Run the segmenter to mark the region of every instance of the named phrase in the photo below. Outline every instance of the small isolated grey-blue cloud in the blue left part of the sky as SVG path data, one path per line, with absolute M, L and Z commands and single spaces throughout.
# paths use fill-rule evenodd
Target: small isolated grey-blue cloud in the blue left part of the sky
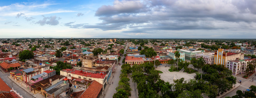
M 39 20 L 38 22 L 36 22 L 36 24 L 40 24 L 41 26 L 43 25 L 58 25 L 59 22 L 58 20 L 60 20 L 61 18 L 56 17 L 56 16 L 51 16 L 51 17 L 45 17 L 43 16 L 42 20 Z

